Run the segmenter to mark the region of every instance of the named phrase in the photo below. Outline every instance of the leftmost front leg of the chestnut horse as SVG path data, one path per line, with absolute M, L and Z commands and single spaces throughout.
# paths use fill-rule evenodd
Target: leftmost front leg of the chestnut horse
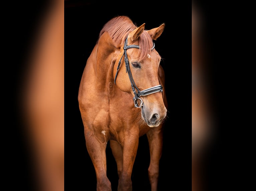
M 96 177 L 97 191 L 111 191 L 111 183 L 107 178 L 106 165 L 106 146 L 107 143 L 101 143 L 90 131 L 85 131 L 86 147 L 92 159 Z

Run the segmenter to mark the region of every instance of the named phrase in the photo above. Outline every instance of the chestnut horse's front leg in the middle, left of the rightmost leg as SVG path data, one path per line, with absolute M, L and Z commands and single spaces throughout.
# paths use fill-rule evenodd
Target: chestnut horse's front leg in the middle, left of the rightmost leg
M 125 133 L 123 148 L 123 167 L 119 176 L 118 191 L 132 191 L 132 167 L 137 154 L 139 129 L 132 128 Z

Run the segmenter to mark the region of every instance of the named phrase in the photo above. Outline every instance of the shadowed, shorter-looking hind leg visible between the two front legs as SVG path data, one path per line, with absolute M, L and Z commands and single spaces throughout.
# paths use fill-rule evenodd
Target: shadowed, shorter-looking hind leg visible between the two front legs
M 120 178 L 120 174 L 123 168 L 123 151 L 122 151 L 122 147 L 120 145 L 119 142 L 115 141 L 115 140 L 110 140 L 110 147 L 113 153 L 113 156 L 116 160 L 116 164 L 117 164 L 117 173 L 118 173 L 118 177 Z

